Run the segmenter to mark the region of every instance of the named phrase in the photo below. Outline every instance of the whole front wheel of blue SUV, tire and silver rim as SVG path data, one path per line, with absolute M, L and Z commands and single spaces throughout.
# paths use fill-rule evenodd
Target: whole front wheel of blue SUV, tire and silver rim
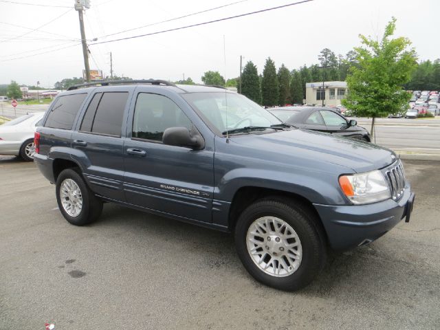
M 309 284 L 327 252 L 316 215 L 291 199 L 252 203 L 240 215 L 235 244 L 246 270 L 259 282 L 287 291 Z

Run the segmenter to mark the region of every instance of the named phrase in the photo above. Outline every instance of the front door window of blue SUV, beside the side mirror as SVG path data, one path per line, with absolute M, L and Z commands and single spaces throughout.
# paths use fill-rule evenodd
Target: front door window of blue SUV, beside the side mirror
M 177 104 L 162 95 L 140 93 L 133 118 L 133 137 L 162 141 L 169 127 L 191 129 L 191 122 Z

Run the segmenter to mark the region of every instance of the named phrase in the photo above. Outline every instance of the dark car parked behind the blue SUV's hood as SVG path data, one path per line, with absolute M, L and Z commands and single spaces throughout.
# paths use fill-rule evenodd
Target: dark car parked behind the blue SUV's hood
M 333 108 L 280 107 L 269 111 L 286 124 L 294 125 L 300 129 L 331 133 L 366 142 L 371 141 L 369 132 L 364 127 L 358 126 L 356 120 L 347 120 Z

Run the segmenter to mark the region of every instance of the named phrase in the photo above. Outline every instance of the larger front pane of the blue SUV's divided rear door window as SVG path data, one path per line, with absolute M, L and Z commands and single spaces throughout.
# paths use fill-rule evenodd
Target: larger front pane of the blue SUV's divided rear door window
M 104 93 L 96 110 L 91 131 L 121 136 L 122 117 L 128 97 L 128 92 Z

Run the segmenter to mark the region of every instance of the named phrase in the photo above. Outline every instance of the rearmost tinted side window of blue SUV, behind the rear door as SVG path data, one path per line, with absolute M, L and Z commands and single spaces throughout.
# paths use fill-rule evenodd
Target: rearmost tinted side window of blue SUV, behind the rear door
M 72 94 L 56 99 L 52 110 L 47 115 L 46 127 L 54 129 L 72 129 L 76 113 L 81 107 L 87 94 Z

